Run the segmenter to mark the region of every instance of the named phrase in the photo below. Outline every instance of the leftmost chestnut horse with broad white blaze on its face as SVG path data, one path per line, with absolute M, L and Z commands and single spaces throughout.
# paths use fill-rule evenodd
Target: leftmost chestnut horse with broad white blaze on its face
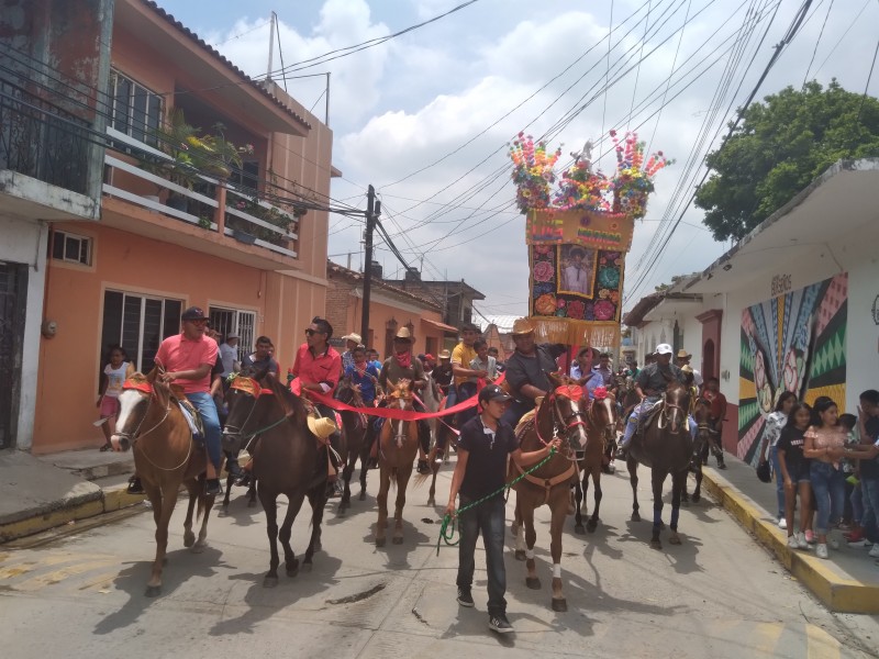
M 204 494 L 204 470 L 208 456 L 196 446 L 189 424 L 175 394 L 153 369 L 149 375 L 134 373 L 119 396 L 119 418 L 112 437 L 122 450 L 130 447 L 134 468 L 144 485 L 156 523 L 156 558 L 146 585 L 146 596 L 162 592 L 162 568 L 168 547 L 168 524 L 177 504 L 180 485 L 189 492 L 189 506 L 183 522 L 183 546 L 203 551 L 208 538 L 208 516 L 213 496 Z M 196 520 L 201 516 L 198 540 L 192 533 L 192 511 L 198 502 Z

